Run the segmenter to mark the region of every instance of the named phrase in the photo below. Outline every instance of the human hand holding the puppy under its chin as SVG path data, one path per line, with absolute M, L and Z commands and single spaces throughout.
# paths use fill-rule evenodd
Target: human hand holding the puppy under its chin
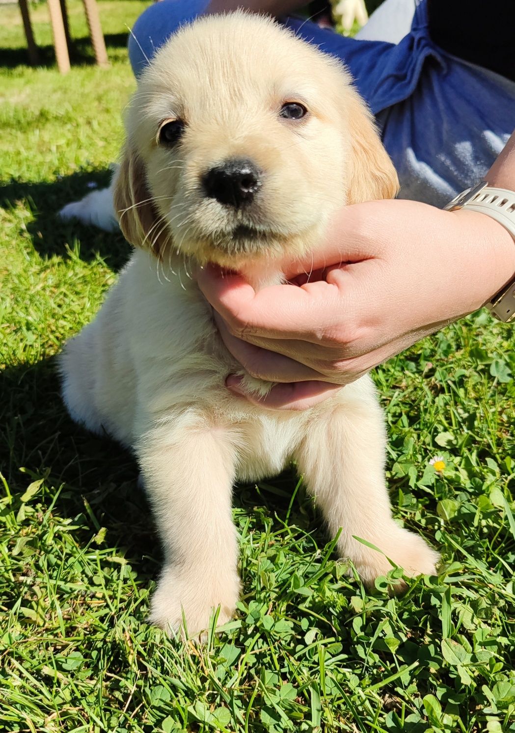
M 199 272 L 223 342 L 267 397 L 231 391 L 271 409 L 302 410 L 377 364 L 473 312 L 515 272 L 514 240 L 470 210 L 377 201 L 338 212 L 327 245 L 286 276 L 316 280 L 256 292 L 237 273 Z

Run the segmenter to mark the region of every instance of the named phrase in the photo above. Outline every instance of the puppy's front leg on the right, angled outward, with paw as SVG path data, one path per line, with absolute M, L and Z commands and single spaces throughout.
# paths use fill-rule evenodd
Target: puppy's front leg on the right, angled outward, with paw
M 340 555 L 352 560 L 368 585 L 391 570 L 387 558 L 406 575 L 434 573 L 437 553 L 417 534 L 399 527 L 391 515 L 384 475 L 385 428 L 371 388 L 365 399 L 348 399 L 333 413 L 319 416 L 308 430 L 295 457 L 331 535 L 341 528 Z

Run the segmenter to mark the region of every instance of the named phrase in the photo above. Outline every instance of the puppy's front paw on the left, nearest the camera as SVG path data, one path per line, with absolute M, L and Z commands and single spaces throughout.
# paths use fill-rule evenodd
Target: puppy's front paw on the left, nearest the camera
M 184 614 L 188 636 L 202 636 L 218 606 L 217 625 L 223 626 L 231 619 L 239 596 L 240 578 L 236 574 L 212 578 L 165 567 L 152 597 L 149 622 L 184 637 Z

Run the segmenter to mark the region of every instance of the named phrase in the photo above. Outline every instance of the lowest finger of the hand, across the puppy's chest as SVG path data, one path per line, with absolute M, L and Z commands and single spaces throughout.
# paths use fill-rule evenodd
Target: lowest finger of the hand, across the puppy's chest
M 242 377 L 231 375 L 226 379 L 226 386 L 234 394 L 240 394 L 253 405 L 259 405 L 269 410 L 308 410 L 319 402 L 324 402 L 341 389 L 340 385 L 329 382 L 297 382 L 294 384 L 278 384 L 273 387 L 266 397 L 256 397 L 247 394 L 241 388 Z

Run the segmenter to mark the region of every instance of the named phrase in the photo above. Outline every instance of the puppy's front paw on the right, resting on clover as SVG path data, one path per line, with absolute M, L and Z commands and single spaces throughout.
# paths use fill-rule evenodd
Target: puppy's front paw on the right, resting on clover
M 407 529 L 395 526 L 390 536 L 385 537 L 378 547 L 384 554 L 361 545 L 355 560 L 357 572 L 366 585 L 374 585 L 379 575 L 386 575 L 392 569 L 388 558 L 403 568 L 404 575 L 410 578 L 415 578 L 416 575 L 435 575 L 437 572 L 438 553 L 422 537 Z M 399 583 L 396 590 L 405 587 L 405 583 Z

